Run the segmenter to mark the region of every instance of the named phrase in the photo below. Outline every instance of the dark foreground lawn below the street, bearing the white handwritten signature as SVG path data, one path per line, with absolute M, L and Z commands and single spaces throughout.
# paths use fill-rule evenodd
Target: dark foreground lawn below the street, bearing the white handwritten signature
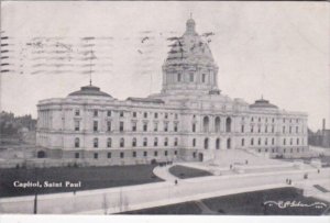
M 306 198 L 301 194 L 301 190 L 296 188 L 261 190 L 201 200 L 215 213 L 231 215 L 320 215 L 326 210 L 326 208 L 316 209 L 315 207 L 280 209 L 277 205 L 265 205 L 266 201 L 300 201 L 304 204 L 311 204 L 320 200 Z M 329 207 L 328 202 L 323 203 Z M 125 214 L 201 214 L 201 210 L 195 201 L 191 201 L 131 211 Z

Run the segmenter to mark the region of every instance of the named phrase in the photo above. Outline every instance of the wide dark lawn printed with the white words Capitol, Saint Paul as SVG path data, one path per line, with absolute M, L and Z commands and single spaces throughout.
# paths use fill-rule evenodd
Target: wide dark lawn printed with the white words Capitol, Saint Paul
M 35 188 L 15 188 L 13 182 L 81 181 L 81 187 L 37 188 L 37 193 L 67 192 L 120 186 L 158 182 L 162 179 L 153 174 L 155 165 L 110 166 L 110 167 L 53 167 L 37 169 L 0 169 L 0 198 L 34 194 Z

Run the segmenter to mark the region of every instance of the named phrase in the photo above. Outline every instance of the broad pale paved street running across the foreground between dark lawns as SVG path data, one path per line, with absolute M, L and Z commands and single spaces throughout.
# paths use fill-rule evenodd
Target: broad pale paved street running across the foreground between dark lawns
M 304 174 L 308 172 L 308 179 Z M 103 214 L 166 205 L 205 198 L 286 187 L 286 179 L 293 186 L 304 181 L 330 179 L 330 169 L 290 170 L 266 174 L 242 174 L 211 176 L 173 181 L 155 182 L 123 188 L 111 188 L 38 196 L 38 213 L 86 213 Z M 0 199 L 1 213 L 32 213 L 34 197 Z

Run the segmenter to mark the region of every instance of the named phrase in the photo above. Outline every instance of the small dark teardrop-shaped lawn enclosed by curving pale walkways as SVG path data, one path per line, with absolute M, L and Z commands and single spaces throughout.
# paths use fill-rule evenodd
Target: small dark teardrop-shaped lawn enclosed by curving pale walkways
M 168 170 L 172 175 L 174 175 L 180 179 L 212 176 L 212 174 L 209 171 L 190 168 L 190 167 L 185 167 L 185 166 L 180 166 L 180 165 L 170 167 Z

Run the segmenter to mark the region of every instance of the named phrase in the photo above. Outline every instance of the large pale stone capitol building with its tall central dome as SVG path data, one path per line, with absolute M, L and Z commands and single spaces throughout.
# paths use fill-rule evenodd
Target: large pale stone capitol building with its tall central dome
M 218 88 L 218 66 L 189 19 L 163 65 L 160 93 L 118 100 L 89 85 L 37 104 L 37 157 L 113 165 L 207 161 L 228 149 L 267 157 L 308 150 L 307 114 Z

